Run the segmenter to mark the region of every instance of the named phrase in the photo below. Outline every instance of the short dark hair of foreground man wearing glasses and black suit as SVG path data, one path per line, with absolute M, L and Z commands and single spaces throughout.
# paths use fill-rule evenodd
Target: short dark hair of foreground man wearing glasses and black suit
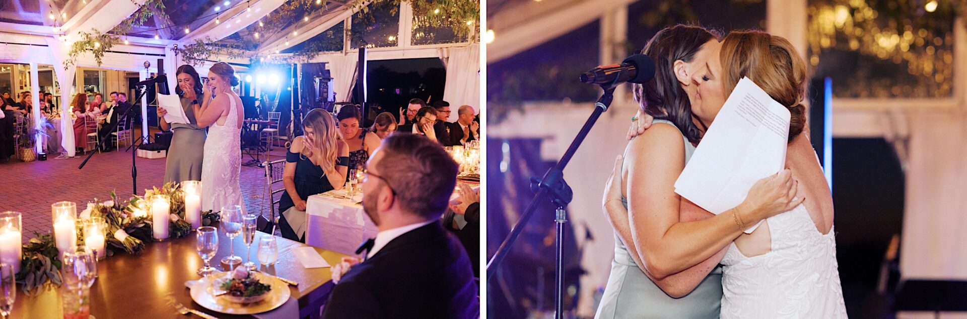
M 426 219 L 438 219 L 450 204 L 456 186 L 457 165 L 443 146 L 423 136 L 395 133 L 380 146 L 376 163 L 396 192 L 403 210 Z

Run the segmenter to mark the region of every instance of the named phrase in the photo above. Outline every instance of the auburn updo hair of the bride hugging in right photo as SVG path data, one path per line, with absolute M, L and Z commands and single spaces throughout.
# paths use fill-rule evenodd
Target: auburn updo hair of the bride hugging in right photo
M 762 31 L 736 31 L 722 40 L 722 89 L 732 93 L 743 77 L 789 109 L 789 142 L 806 127 L 806 62 L 788 40 Z

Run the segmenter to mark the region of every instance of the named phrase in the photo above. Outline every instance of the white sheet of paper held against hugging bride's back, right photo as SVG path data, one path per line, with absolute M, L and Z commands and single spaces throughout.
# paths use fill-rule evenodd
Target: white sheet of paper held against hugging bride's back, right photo
M 756 181 L 782 170 L 789 117 L 785 106 L 743 78 L 675 181 L 675 193 L 717 215 L 738 206 Z

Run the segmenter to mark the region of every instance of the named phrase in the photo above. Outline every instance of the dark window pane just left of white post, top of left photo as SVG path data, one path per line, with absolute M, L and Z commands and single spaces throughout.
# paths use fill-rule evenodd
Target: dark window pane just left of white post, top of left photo
M 350 29 L 353 48 L 396 46 L 399 38 L 399 7 L 392 1 L 366 6 L 367 13 L 353 14 Z

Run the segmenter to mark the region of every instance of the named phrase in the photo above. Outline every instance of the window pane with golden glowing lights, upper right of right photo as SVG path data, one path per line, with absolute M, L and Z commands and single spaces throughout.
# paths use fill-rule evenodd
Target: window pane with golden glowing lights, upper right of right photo
M 836 97 L 952 96 L 955 13 L 918 3 L 810 0 L 815 77 L 832 77 Z

